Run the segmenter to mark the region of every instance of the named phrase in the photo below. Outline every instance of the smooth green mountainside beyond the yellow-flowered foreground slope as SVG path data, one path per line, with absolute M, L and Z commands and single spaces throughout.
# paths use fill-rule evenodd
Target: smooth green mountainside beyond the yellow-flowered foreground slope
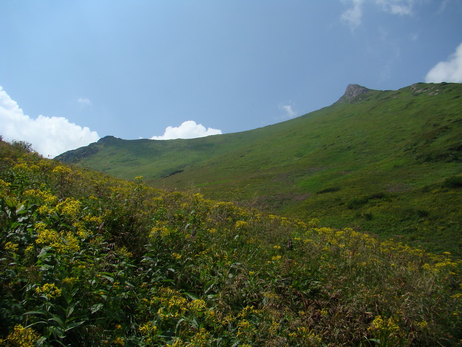
M 252 131 L 105 137 L 57 159 L 462 254 L 462 85 L 348 92 L 329 107 Z

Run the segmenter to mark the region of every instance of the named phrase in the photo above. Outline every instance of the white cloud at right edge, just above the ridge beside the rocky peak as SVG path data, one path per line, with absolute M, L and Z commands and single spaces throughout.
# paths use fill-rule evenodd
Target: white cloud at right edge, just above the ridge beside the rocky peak
M 427 83 L 456 82 L 462 83 L 462 43 L 452 53 L 448 61 L 439 62 L 425 77 Z

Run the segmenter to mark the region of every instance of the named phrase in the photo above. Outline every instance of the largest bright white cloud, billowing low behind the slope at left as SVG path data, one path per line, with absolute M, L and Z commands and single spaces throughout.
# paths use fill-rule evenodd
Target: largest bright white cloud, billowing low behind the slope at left
M 43 156 L 58 154 L 83 147 L 98 141 L 96 132 L 81 127 L 64 117 L 38 116 L 33 119 L 25 115 L 16 101 L 0 86 L 0 135 L 7 141 L 28 141 L 32 148 Z

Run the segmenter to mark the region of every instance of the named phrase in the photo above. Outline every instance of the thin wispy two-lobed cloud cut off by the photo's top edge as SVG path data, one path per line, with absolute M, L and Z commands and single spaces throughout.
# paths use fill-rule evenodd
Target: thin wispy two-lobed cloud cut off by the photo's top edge
M 347 23 L 352 29 L 361 24 L 364 3 L 372 3 L 382 11 L 398 15 L 411 15 L 415 3 L 422 0 L 342 0 L 344 3 L 351 3 L 352 7 L 345 10 L 340 19 Z

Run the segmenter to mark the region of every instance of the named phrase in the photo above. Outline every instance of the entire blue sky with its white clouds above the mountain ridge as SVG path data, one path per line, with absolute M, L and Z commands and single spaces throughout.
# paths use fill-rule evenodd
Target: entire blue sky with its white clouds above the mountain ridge
M 45 156 L 462 82 L 462 0 L 2 0 L 0 32 L 0 135 Z

